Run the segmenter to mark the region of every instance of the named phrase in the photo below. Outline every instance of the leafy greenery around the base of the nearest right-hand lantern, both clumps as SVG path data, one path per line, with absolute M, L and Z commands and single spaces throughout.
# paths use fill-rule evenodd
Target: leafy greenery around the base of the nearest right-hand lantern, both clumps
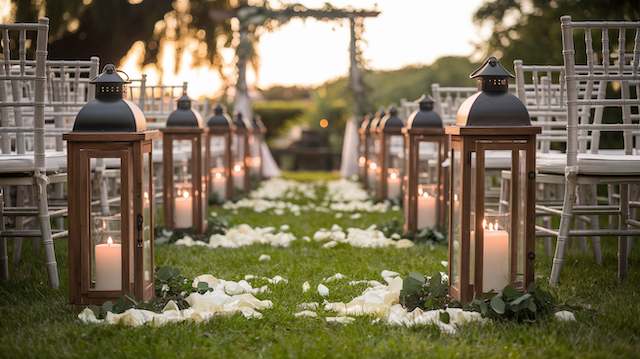
M 403 279 L 400 304 L 407 310 L 463 308 L 479 312 L 492 320 L 535 322 L 546 318 L 561 306 L 550 292 L 532 283 L 526 291 L 507 285 L 499 293 L 491 292 L 462 305 L 448 295 L 448 280 L 440 273 L 425 277 L 420 273 L 409 273 Z

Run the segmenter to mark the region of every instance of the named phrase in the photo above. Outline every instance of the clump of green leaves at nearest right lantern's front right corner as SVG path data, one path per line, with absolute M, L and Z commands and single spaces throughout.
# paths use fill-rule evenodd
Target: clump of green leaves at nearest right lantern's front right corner
M 468 308 L 494 320 L 533 322 L 553 313 L 557 304 L 551 293 L 532 284 L 527 291 L 506 286 L 501 293 L 474 299 Z

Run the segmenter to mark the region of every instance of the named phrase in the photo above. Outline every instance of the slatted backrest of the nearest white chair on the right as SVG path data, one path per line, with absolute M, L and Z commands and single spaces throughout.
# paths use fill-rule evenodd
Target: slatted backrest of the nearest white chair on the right
M 567 85 L 567 166 L 577 165 L 579 151 L 578 136 L 585 131 L 619 132 L 622 134 L 622 149 L 625 155 L 633 154 L 633 136 L 640 130 L 640 124 L 634 123 L 638 115 L 632 114 L 632 108 L 638 109 L 640 98 L 638 83 L 640 81 L 640 22 L 624 21 L 578 21 L 570 16 L 561 18 L 562 48 L 565 77 Z M 593 47 L 593 33 L 600 36 L 600 63 L 596 60 Z M 574 36 L 583 33 L 585 42 L 585 60 L 576 61 Z M 617 49 L 610 48 L 610 35 L 618 35 Z M 627 54 L 627 33 L 633 34 L 633 51 L 630 58 Z M 617 61 L 612 61 L 612 52 Z M 613 56 L 615 57 L 615 56 Z M 613 89 L 606 98 L 579 98 L 581 83 L 603 82 Z M 631 98 L 630 86 L 636 86 L 635 97 Z M 618 90 L 615 88 L 618 87 Z M 621 111 L 616 123 L 584 123 L 580 121 L 581 108 L 602 107 L 618 108 Z M 584 110 L 582 110 L 585 112 Z M 597 152 L 599 143 L 592 143 L 591 152 Z

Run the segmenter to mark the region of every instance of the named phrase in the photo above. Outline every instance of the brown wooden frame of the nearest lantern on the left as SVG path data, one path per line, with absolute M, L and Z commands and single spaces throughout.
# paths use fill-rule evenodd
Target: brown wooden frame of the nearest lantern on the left
M 69 169 L 69 299 L 72 304 L 102 304 L 124 295 L 147 301 L 154 297 L 154 201 L 152 141 L 158 131 L 141 132 L 72 132 L 63 135 L 68 142 Z M 143 179 L 147 154 L 148 192 Z M 120 162 L 120 232 L 122 282 L 120 290 L 90 290 L 91 282 L 91 159 L 118 158 Z M 149 222 L 144 223 L 144 202 L 148 201 Z M 149 230 L 150 268 L 144 273 L 145 224 Z M 133 268 L 131 267 L 133 264 Z

